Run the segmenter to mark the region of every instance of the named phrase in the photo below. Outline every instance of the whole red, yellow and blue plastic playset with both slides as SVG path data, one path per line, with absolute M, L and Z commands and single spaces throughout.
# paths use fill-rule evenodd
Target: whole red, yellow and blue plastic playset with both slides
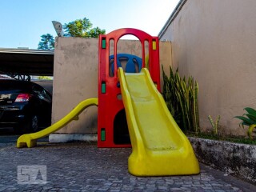
M 118 40 L 126 34 L 134 35 L 142 43 L 142 58 L 118 54 Z M 110 41 L 114 42 L 113 55 Z M 78 120 L 86 107 L 98 106 L 98 147 L 132 146 L 128 159 L 130 174 L 198 174 L 194 150 L 159 93 L 158 37 L 131 28 L 114 30 L 100 35 L 98 49 L 98 98 L 80 102 L 70 114 L 44 130 L 23 134 L 17 147 L 36 146 L 38 138 Z

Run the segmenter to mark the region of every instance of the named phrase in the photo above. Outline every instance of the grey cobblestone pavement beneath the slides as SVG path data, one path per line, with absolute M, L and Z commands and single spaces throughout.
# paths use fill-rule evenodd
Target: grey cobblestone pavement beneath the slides
M 201 164 L 201 174 L 139 178 L 127 172 L 131 149 L 95 143 L 0 146 L 0 191 L 256 191 L 256 186 Z M 18 166 L 46 166 L 46 184 L 18 184 Z M 42 179 L 42 178 L 41 178 Z

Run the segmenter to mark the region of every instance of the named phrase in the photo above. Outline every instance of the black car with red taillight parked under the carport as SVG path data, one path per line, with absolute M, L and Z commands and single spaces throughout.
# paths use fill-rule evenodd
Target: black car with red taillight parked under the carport
M 34 82 L 0 79 L 0 127 L 17 133 L 50 126 L 52 95 Z

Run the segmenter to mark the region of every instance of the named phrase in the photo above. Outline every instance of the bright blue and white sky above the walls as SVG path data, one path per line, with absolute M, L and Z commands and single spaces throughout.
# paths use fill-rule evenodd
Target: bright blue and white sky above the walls
M 42 34 L 57 36 L 62 25 L 89 18 L 106 30 L 136 28 L 157 36 L 179 0 L 0 0 L 0 47 L 37 49 Z

